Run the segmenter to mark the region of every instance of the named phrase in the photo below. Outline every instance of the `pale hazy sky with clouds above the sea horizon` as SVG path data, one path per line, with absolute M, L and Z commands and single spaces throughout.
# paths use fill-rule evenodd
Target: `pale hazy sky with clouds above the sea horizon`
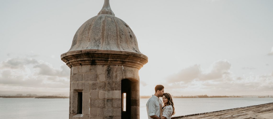
M 103 0 L 0 0 L 0 94 L 69 95 L 61 61 Z M 110 0 L 149 61 L 140 95 L 273 95 L 272 0 Z

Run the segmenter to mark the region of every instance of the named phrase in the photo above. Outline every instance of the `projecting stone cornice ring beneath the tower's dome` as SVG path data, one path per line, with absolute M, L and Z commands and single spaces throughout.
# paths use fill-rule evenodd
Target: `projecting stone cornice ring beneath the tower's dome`
M 115 50 L 76 50 L 61 54 L 67 66 L 87 64 L 124 65 L 140 69 L 148 62 L 144 54 Z

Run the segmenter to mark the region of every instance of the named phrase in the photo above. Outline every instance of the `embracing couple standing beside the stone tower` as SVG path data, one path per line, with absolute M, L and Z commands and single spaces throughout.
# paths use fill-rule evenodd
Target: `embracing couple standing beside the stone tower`
M 162 97 L 163 103 L 159 97 Z M 155 86 L 155 95 L 148 100 L 146 108 L 148 119 L 171 119 L 175 114 L 173 99 L 169 93 L 164 93 L 163 85 Z

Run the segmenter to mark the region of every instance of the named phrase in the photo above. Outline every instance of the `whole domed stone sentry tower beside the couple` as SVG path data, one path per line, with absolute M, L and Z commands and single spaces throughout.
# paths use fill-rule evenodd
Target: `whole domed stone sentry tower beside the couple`
M 138 70 L 148 58 L 109 0 L 78 29 L 61 60 L 70 67 L 69 119 L 140 118 Z

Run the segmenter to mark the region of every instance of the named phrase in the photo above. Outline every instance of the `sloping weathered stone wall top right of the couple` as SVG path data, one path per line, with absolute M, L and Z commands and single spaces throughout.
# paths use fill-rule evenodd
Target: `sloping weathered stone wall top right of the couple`
M 273 102 L 248 107 L 240 107 L 229 110 L 206 112 L 200 114 L 172 117 L 172 119 L 273 119 Z

